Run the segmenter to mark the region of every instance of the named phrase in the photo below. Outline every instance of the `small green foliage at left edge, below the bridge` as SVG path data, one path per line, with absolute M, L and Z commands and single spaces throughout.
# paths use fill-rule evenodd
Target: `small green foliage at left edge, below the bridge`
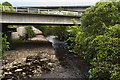
M 2 37 L 2 34 L 1 34 L 1 33 L 0 33 L 0 36 Z M 3 58 L 3 53 L 10 48 L 9 45 L 10 45 L 10 43 L 7 42 L 7 36 L 4 35 L 4 36 L 2 37 L 2 45 L 0 46 L 0 47 L 1 47 L 1 48 L 0 48 L 0 59 Z

